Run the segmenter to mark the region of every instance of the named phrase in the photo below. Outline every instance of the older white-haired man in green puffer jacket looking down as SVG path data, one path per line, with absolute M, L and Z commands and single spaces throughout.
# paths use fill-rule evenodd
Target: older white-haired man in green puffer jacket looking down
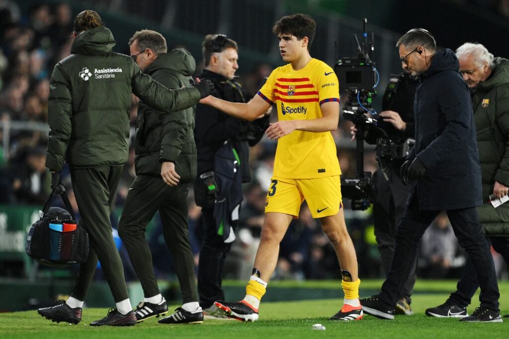
M 509 60 L 493 57 L 477 43 L 461 45 L 456 55 L 470 89 L 477 131 L 483 182 L 483 205 L 477 206 L 479 222 L 488 242 L 509 264 L 509 203 L 497 208 L 490 203 L 506 196 L 509 190 Z M 426 314 L 468 316 L 466 307 L 478 286 L 475 269 L 468 259 L 457 291 L 444 304 L 426 310 Z

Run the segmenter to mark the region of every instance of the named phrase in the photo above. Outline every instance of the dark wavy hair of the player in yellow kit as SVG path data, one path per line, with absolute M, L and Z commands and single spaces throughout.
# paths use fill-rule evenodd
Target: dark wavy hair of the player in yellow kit
M 298 40 L 307 37 L 307 50 L 311 47 L 315 33 L 317 30 L 317 23 L 310 16 L 305 14 L 287 15 L 276 21 L 272 32 L 274 34 L 290 34 L 295 36 Z

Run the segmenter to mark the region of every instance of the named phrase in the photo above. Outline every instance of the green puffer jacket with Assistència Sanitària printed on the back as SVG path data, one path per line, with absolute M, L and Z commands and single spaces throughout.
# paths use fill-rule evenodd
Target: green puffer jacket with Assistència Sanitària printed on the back
M 131 92 L 165 112 L 200 101 L 198 89 L 162 86 L 131 57 L 112 52 L 113 46 L 108 28 L 85 30 L 74 39 L 71 55 L 54 67 L 48 99 L 50 170 L 61 171 L 64 160 L 80 168 L 126 163 Z

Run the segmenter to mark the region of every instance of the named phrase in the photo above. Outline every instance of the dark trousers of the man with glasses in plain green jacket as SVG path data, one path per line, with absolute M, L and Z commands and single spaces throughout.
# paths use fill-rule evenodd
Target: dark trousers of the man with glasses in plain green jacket
M 183 302 L 198 301 L 194 258 L 189 243 L 188 192 L 189 183 L 168 186 L 162 178 L 138 175 L 127 193 L 119 222 L 119 236 L 146 298 L 160 293 L 145 237 L 148 223 L 159 210 L 164 241 L 174 260 Z

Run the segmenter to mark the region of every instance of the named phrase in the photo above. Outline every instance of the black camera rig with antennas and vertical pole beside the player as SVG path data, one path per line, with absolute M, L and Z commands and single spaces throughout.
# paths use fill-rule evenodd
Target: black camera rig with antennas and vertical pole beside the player
M 341 177 L 342 196 L 352 200 L 352 209 L 364 210 L 373 202 L 372 173 L 364 172 L 364 131 L 366 128 L 377 128 L 378 119 L 376 111 L 372 109 L 372 99 L 377 92 L 375 87 L 379 82 L 378 71 L 373 61 L 374 36 L 367 43 L 366 33 L 367 19 L 362 20 L 363 38 L 362 47 L 357 36 L 354 35 L 357 44 L 357 57 L 344 57 L 338 59 L 334 65 L 334 73 L 337 76 L 340 89 L 346 90 L 348 100 L 345 102 L 343 117 L 352 121 L 356 128 L 356 171 L 355 178 Z M 337 59 L 337 57 L 336 57 Z M 376 82 L 375 82 L 376 80 Z M 366 115 L 365 113 L 371 113 Z M 381 130 L 382 133 L 385 133 Z M 387 135 L 387 133 L 385 133 Z

